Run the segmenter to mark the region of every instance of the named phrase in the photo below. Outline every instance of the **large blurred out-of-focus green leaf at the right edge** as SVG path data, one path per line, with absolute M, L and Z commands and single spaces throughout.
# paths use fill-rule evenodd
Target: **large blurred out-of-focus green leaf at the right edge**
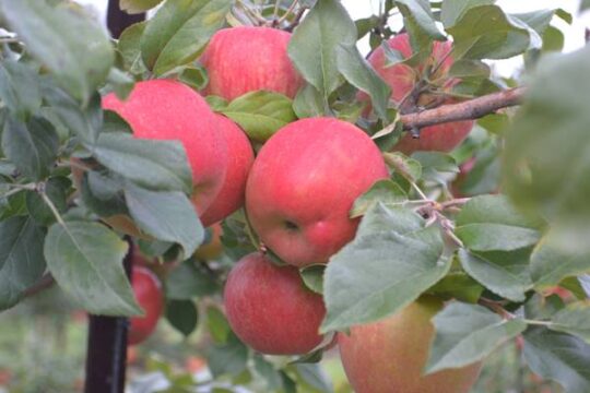
M 545 57 L 506 132 L 504 190 L 523 212 L 550 221 L 590 221 L 590 47 Z M 547 159 L 552 157 L 552 159 Z

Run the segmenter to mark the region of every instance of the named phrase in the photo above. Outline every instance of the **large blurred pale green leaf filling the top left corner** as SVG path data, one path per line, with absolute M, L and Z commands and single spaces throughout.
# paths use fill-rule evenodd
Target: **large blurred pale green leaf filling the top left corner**
M 38 0 L 4 0 L 0 14 L 27 51 L 85 105 L 115 60 L 103 28 L 76 9 Z

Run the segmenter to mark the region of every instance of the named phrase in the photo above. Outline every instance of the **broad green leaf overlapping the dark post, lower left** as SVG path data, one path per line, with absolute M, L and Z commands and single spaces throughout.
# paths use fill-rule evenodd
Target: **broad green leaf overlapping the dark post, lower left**
M 85 310 L 104 315 L 141 313 L 125 274 L 128 245 L 104 225 L 66 222 L 49 227 L 44 253 L 54 278 Z

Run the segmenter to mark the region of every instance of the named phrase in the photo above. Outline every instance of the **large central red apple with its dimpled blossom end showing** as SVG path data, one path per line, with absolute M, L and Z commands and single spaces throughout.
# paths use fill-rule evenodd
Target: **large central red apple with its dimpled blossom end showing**
M 303 119 L 260 150 L 246 211 L 260 240 L 286 263 L 326 263 L 356 233 L 358 219 L 349 218 L 356 198 L 388 176 L 361 129 L 333 118 Z

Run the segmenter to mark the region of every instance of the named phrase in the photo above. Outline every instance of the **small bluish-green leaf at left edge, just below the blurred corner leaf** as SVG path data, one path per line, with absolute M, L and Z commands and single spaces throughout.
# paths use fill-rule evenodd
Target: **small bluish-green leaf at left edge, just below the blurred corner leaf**
M 34 115 L 42 105 L 37 73 L 23 62 L 3 60 L 0 63 L 0 97 L 21 120 Z

